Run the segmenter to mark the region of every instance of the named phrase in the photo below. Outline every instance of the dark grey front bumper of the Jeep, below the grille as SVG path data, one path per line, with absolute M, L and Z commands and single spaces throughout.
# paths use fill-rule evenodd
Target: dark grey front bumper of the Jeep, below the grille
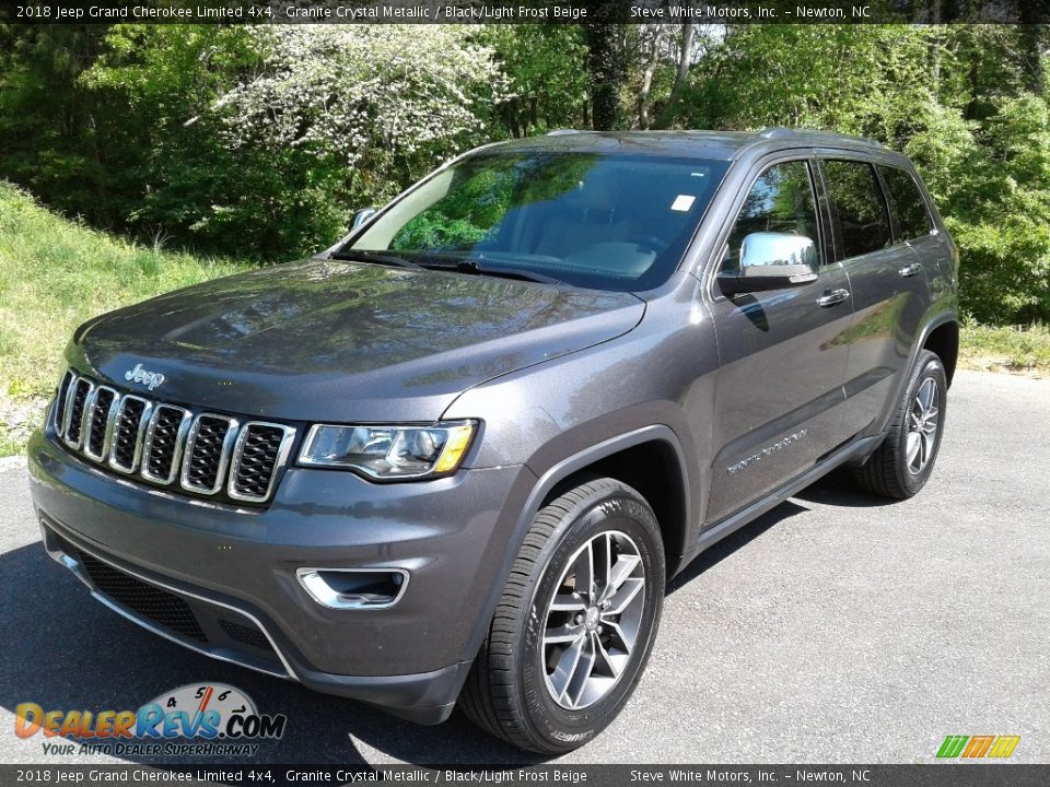
M 290 468 L 265 510 L 114 478 L 44 434 L 28 446 L 48 553 L 144 627 L 215 658 L 422 723 L 451 713 L 535 482 L 521 467 L 372 484 Z M 296 569 L 405 569 L 385 609 L 317 603 Z

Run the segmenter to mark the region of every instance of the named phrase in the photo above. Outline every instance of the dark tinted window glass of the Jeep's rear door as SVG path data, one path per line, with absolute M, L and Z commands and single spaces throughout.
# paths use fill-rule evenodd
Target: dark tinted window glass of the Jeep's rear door
M 827 161 L 824 168 L 842 237 L 843 258 L 860 257 L 889 246 L 892 243 L 889 216 L 872 165 Z

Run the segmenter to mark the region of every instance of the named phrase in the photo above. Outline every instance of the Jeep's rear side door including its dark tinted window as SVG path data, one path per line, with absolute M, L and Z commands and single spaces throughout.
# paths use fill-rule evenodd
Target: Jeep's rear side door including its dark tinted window
M 929 303 L 923 265 L 895 227 L 875 164 L 848 154 L 820 162 L 836 258 L 853 292 L 844 423 L 852 435 L 879 422 L 892 401 Z

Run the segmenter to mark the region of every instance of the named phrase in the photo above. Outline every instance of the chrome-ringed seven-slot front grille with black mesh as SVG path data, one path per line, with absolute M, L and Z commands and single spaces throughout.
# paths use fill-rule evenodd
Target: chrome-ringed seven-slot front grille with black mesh
M 295 430 L 194 413 L 67 372 L 54 408 L 66 446 L 106 469 L 195 495 L 269 500 Z

